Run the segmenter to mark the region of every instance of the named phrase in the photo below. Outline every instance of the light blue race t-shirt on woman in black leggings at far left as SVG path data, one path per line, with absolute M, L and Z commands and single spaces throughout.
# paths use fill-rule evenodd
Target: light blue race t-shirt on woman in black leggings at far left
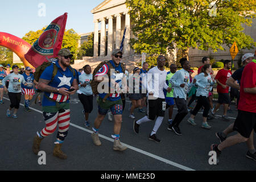
M 5 85 L 6 81 L 9 80 L 8 92 L 19 93 L 21 92 L 21 84 L 25 84 L 26 81 L 22 75 L 10 73 L 2 80 L 2 84 Z

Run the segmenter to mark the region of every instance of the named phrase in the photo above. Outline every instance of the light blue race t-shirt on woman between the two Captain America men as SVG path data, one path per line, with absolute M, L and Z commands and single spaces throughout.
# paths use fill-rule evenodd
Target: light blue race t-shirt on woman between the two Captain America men
M 90 82 L 92 81 L 92 74 L 82 74 L 79 76 L 80 84 L 86 84 L 86 86 L 79 86 L 79 90 L 77 90 L 77 93 L 85 94 L 86 96 L 90 96 L 93 94 L 92 92 L 92 86 L 90 86 Z M 80 85 L 79 84 L 79 85 Z

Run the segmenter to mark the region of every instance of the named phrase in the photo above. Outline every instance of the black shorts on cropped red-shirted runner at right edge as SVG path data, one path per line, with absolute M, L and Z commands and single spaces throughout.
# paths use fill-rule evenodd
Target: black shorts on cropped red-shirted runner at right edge
M 237 119 L 234 122 L 233 130 L 236 130 L 243 137 L 249 138 L 251 131 L 256 131 L 256 113 L 238 110 Z

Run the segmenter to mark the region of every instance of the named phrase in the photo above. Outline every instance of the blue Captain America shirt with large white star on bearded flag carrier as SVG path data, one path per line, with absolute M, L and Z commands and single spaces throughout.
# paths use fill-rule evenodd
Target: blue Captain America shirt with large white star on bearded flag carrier
M 74 80 L 73 72 L 71 69 L 66 68 L 65 71 L 60 67 L 59 62 L 53 62 L 49 67 L 44 69 L 42 75 L 40 78 L 44 80 L 51 80 L 52 79 L 52 73 L 53 73 L 53 64 L 56 64 L 58 70 L 57 74 L 53 78 L 51 82 L 49 82 L 49 86 L 52 86 L 54 88 L 67 88 L 70 89 Z M 75 76 L 76 79 L 76 76 Z M 69 103 L 69 96 L 63 96 L 60 93 L 49 93 L 44 92 L 44 98 L 42 102 L 42 106 L 55 106 L 56 102 L 66 102 Z

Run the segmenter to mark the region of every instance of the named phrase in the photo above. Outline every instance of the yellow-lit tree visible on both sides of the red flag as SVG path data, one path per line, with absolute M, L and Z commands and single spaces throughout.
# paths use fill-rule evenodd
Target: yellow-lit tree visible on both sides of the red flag
M 23 36 L 23 40 L 28 42 L 29 44 L 34 44 L 36 40 L 39 38 L 41 34 L 43 34 L 44 30 L 46 30 L 47 27 L 43 27 L 41 30 L 38 31 L 30 31 L 25 36 Z M 78 49 L 78 40 L 80 39 L 80 36 L 75 32 L 73 29 L 65 30 L 64 36 L 63 36 L 63 42 L 61 48 L 68 48 L 71 53 L 74 55 L 73 59 L 76 59 L 77 56 L 77 49 Z M 71 61 L 73 63 L 73 60 Z

